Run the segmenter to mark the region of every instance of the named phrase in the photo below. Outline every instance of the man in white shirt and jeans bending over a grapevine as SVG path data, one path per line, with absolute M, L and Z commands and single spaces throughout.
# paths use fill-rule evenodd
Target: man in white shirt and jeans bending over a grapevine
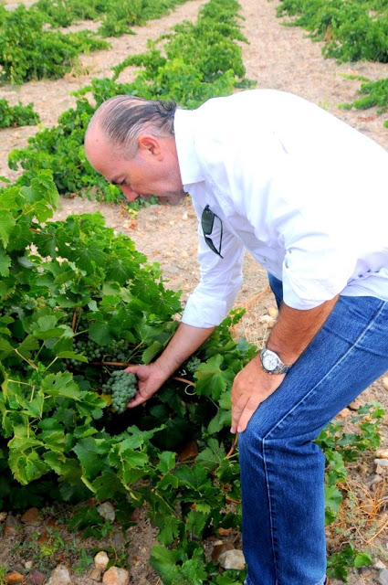
M 169 346 L 130 367 L 149 399 L 231 309 L 244 250 L 280 312 L 236 376 L 247 585 L 325 582 L 324 461 L 313 439 L 388 369 L 388 154 L 296 96 L 250 90 L 195 111 L 118 96 L 86 137 L 124 195 L 179 202 L 199 219 L 201 282 Z

